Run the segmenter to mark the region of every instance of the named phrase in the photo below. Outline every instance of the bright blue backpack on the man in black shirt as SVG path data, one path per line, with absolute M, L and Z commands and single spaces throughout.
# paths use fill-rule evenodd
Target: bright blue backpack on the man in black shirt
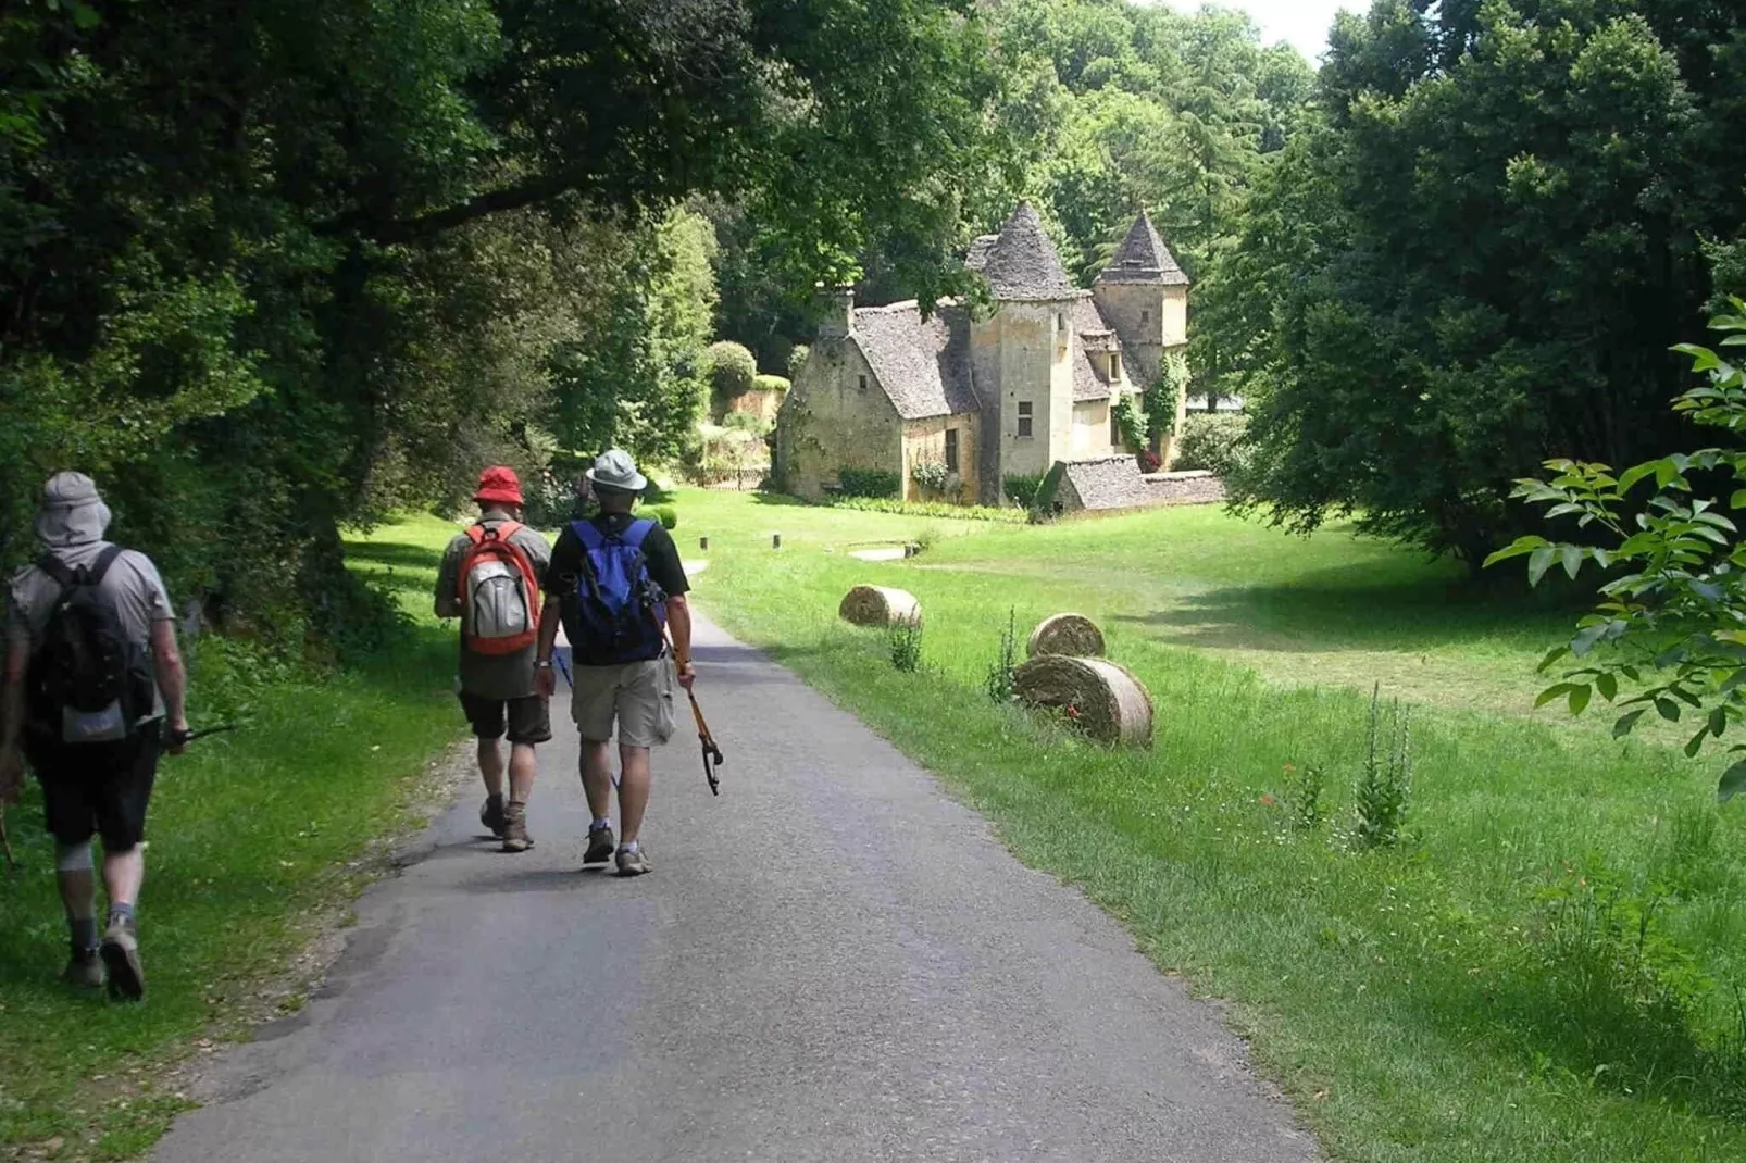
M 648 662 L 665 646 L 667 595 L 650 578 L 643 541 L 653 520 L 632 520 L 618 534 L 592 520 L 573 520 L 583 562 L 576 576 L 576 625 L 569 646 L 587 667 Z

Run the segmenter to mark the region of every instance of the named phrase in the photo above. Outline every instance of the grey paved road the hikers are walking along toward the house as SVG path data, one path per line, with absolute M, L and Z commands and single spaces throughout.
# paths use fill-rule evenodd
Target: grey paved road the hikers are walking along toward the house
M 470 789 L 154 1158 L 1316 1158 L 1103 913 L 786 671 L 707 625 L 697 658 L 730 767 L 712 800 L 688 739 L 660 753 L 653 875 L 576 871 L 573 737 L 533 852 L 480 842 Z

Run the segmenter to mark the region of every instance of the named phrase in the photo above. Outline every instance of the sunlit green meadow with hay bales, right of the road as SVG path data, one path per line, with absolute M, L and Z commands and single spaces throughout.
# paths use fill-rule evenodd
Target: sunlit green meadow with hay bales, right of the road
M 1217 510 L 1006 529 L 688 494 L 698 597 L 985 810 L 1234 1022 L 1339 1160 L 1746 1158 L 1746 817 L 1713 770 L 1531 714 L 1570 611 L 1330 531 Z M 784 548 L 768 548 L 780 531 Z M 697 554 L 695 541 L 684 547 Z M 854 583 L 927 611 L 924 672 L 835 618 Z M 1151 688 L 1149 753 L 981 693 L 1007 609 L 1096 616 Z M 1350 850 L 1367 697 L 1418 704 L 1409 842 Z M 1296 831 L 1285 767 L 1325 765 Z

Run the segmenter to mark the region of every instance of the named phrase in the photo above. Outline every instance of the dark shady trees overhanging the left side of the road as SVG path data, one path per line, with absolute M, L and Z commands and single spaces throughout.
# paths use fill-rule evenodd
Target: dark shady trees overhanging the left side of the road
M 878 248 L 950 290 L 985 56 L 969 0 L 5 5 L 0 564 L 80 466 L 183 599 L 320 637 L 340 526 L 693 438 L 684 199 L 766 278 Z

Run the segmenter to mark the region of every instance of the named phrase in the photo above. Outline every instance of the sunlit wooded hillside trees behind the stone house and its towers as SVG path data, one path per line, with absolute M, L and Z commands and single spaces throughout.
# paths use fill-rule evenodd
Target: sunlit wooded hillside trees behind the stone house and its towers
M 1149 208 L 1184 269 L 1212 292 L 1241 225 L 1245 190 L 1290 138 L 1315 86 L 1289 45 L 1264 47 L 1250 19 L 1229 9 L 1179 12 L 1128 0 L 1009 0 L 986 5 L 995 112 L 1013 140 L 1000 166 L 966 175 L 952 197 L 966 206 L 952 239 L 999 229 L 1030 197 L 1083 285 Z M 772 372 L 810 335 L 810 272 L 772 279 L 780 248 L 754 217 L 712 210 L 723 241 L 721 334 L 749 346 Z M 868 248 L 857 299 L 890 302 L 929 288 L 906 274 L 913 246 Z M 1194 367 L 1219 391 L 1229 361 L 1222 341 L 1196 328 Z M 793 374 L 793 370 L 791 370 Z M 1166 409 L 1168 419 L 1170 410 Z

